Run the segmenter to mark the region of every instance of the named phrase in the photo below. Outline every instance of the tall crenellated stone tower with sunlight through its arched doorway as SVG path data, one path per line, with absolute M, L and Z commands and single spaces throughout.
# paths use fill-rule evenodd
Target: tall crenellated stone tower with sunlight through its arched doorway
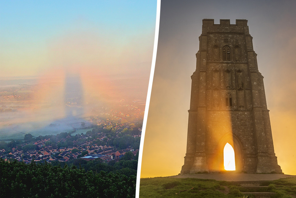
M 247 20 L 204 19 L 199 41 L 181 174 L 223 171 L 227 142 L 237 172 L 281 173 Z

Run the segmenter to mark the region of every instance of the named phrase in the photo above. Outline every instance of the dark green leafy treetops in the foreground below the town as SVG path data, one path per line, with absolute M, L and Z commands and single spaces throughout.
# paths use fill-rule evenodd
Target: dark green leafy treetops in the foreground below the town
M 0 159 L 1 197 L 135 197 L 136 176 Z

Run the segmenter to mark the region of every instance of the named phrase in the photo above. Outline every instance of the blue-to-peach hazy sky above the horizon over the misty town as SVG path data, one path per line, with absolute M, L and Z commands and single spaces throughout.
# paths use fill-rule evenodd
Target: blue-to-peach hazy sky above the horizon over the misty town
M 1 1 L 0 75 L 150 73 L 155 1 Z

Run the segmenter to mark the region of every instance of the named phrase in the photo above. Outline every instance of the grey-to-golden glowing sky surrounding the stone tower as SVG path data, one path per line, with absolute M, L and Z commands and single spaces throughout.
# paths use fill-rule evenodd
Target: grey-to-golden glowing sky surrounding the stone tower
M 247 19 L 264 76 L 274 150 L 285 174 L 296 174 L 296 1 L 161 1 L 155 74 L 141 177 L 177 175 L 184 164 L 190 76 L 202 19 Z

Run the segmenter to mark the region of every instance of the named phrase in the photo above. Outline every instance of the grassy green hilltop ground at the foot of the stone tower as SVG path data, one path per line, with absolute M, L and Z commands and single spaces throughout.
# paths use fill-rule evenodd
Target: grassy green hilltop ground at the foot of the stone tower
M 245 192 L 245 193 L 243 193 Z M 196 178 L 141 178 L 140 197 L 248 197 L 254 192 L 237 182 Z M 296 197 L 296 178 L 261 182 L 255 192 L 272 192 L 271 197 Z

